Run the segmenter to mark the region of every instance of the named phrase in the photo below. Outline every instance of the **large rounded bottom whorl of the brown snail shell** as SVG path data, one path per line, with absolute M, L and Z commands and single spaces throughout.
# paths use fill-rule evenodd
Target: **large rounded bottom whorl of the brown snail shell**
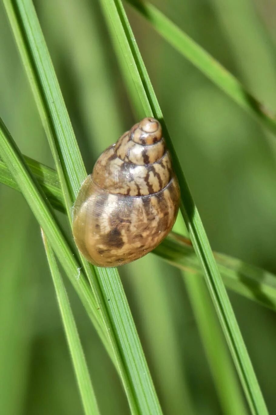
M 159 193 L 164 190 L 141 197 L 109 195 L 101 199 L 97 215 L 96 200 L 106 191 L 94 183 L 91 175 L 88 180 L 93 193 L 89 204 L 84 202 L 74 212 L 73 233 L 79 250 L 93 264 L 118 266 L 138 259 L 154 249 L 173 227 L 179 200 L 175 176 L 163 195 Z M 175 196 L 171 198 L 171 194 Z

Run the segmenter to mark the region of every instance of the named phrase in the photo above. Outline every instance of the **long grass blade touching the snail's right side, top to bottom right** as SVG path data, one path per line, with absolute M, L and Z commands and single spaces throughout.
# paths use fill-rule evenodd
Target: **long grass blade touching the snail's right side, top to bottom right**
M 182 192 L 180 204 L 181 212 L 190 233 L 194 250 L 196 251 L 199 262 L 204 271 L 206 283 L 223 327 L 223 332 L 232 353 L 246 398 L 252 413 L 265 414 L 267 413 L 267 409 L 264 398 L 259 388 L 245 343 L 242 339 L 238 322 L 235 318 L 226 289 L 221 280 L 216 261 L 214 260 L 214 256 L 199 217 L 199 213 L 194 205 L 192 195 L 187 186 L 180 162 L 175 150 L 173 149 L 171 139 L 163 122 L 160 106 L 137 47 L 132 29 L 127 20 L 125 10 L 120 0 L 101 0 L 101 4 L 103 5 L 103 11 L 111 37 L 115 43 L 117 53 L 120 54 L 119 62 L 124 66 L 123 71 L 126 73 L 126 68 L 128 68 L 128 71 L 132 76 L 133 85 L 135 86 L 136 91 L 135 95 L 137 95 L 134 98 L 134 103 L 137 104 L 140 100 L 140 112 L 142 109 L 144 111 L 144 115 L 154 115 L 156 118 L 161 120 L 163 124 L 164 136 L 172 155 L 173 165 L 178 176 Z M 120 44 L 120 49 L 118 48 L 118 44 Z M 139 98 L 139 100 L 137 98 Z

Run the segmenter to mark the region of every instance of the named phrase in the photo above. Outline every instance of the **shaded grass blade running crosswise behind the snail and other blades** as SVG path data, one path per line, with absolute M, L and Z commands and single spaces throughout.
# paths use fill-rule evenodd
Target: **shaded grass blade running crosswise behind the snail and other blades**
M 24 156 L 24 159 L 51 205 L 60 212 L 65 212 L 62 191 L 55 170 L 29 157 Z M 6 164 L 1 160 L 0 183 L 20 191 Z M 202 272 L 190 240 L 175 232 L 171 232 L 154 249 L 153 253 L 184 271 L 190 270 L 195 274 Z M 214 256 L 227 288 L 276 311 L 276 276 L 274 274 L 228 255 L 215 252 Z

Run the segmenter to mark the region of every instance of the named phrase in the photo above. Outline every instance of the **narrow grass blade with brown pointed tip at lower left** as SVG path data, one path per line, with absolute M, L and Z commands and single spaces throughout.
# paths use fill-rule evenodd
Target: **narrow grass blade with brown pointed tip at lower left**
M 93 386 L 91 383 L 86 360 L 84 357 L 82 344 L 79 339 L 79 333 L 77 331 L 77 326 L 76 326 L 74 316 L 71 310 L 71 306 L 69 303 L 69 298 L 67 296 L 65 286 L 62 282 L 62 278 L 60 275 L 60 271 L 58 269 L 58 264 L 55 260 L 55 255 L 53 253 L 53 250 L 49 246 L 43 230 L 41 230 L 41 234 L 42 234 L 42 239 L 43 239 L 43 243 L 44 243 L 44 247 L 46 251 L 46 256 L 47 256 L 51 276 L 53 278 L 53 283 L 55 286 L 55 293 L 56 293 L 57 300 L 58 300 L 60 315 L 62 318 L 62 323 L 63 323 L 64 331 L 66 334 L 68 347 L 69 347 L 70 354 L 72 357 L 72 362 L 74 366 L 75 375 L 77 378 L 79 393 L 82 398 L 84 412 L 86 413 L 86 415 L 90 415 L 90 414 L 96 415 L 96 414 L 99 414 L 98 404 L 97 404 L 96 396 L 95 396 Z

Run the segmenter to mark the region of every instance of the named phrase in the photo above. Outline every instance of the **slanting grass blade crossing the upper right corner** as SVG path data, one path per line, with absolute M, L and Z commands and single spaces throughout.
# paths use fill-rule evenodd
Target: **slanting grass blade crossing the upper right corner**
M 276 134 L 275 114 L 251 95 L 226 68 L 149 2 L 127 0 L 168 43 L 247 113 Z

